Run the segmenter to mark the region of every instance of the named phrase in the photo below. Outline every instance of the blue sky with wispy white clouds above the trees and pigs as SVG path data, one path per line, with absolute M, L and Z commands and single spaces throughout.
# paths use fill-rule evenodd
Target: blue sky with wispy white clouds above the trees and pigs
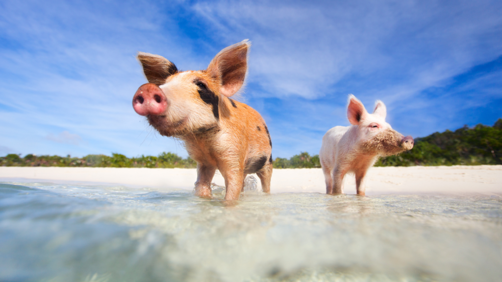
M 318 154 L 352 93 L 426 136 L 502 117 L 500 1 L 0 2 L 0 155 L 173 152 L 136 114 L 138 51 L 205 69 L 252 41 L 246 91 L 273 156 Z

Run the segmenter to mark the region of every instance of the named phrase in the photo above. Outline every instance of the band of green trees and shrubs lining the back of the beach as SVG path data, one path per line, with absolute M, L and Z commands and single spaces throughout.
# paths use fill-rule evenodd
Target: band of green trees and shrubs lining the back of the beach
M 398 156 L 380 159 L 377 167 L 386 166 L 452 166 L 452 165 L 502 165 L 502 118 L 493 126 L 478 124 L 473 128 L 464 126 L 455 131 L 433 133 L 416 138 L 415 147 Z M 190 158 L 183 159 L 173 153 L 157 157 L 141 156 L 127 158 L 120 154 L 88 155 L 83 158 L 70 156 L 35 156 L 21 158 L 9 154 L 0 157 L 0 166 L 7 167 L 113 167 L 113 168 L 195 168 Z M 319 155 L 307 152 L 292 158 L 276 158 L 275 169 L 320 168 Z

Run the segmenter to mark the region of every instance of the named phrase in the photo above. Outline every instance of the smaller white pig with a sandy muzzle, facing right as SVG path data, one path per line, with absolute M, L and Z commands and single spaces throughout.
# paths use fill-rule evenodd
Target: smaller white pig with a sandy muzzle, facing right
M 349 95 L 347 117 L 350 126 L 335 126 L 322 138 L 319 159 L 326 180 L 326 194 L 343 193 L 343 177 L 355 174 L 357 195 L 365 195 L 366 172 L 382 156 L 392 156 L 411 150 L 413 138 L 404 137 L 385 121 L 387 108 L 377 100 L 374 111 Z

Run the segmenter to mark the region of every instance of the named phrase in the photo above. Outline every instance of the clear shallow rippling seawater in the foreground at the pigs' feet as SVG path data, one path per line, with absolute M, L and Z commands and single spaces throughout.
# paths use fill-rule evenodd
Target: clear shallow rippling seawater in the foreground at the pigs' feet
M 1 281 L 497 281 L 502 196 L 0 183 Z

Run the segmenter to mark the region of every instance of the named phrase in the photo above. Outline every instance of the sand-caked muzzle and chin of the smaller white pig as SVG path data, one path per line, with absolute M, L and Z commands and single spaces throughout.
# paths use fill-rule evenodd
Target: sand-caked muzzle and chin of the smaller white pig
M 394 130 L 384 130 L 375 136 L 364 140 L 361 145 L 361 151 L 369 155 L 392 156 L 402 153 L 406 150 L 403 146 L 401 134 Z

